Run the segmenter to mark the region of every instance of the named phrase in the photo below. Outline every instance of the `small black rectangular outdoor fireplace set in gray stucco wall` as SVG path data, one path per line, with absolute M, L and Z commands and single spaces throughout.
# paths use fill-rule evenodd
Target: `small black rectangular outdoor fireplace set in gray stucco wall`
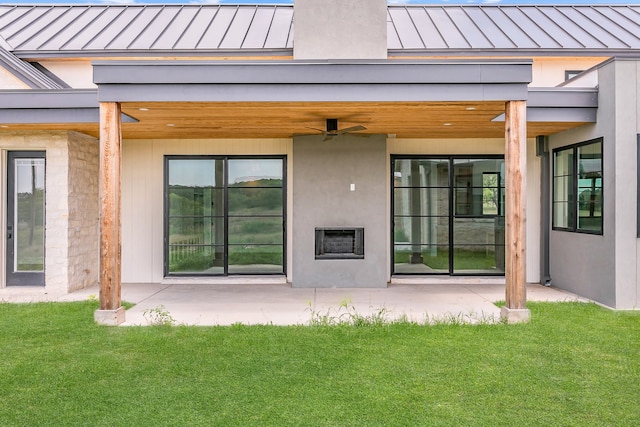
M 316 228 L 316 259 L 364 259 L 364 228 Z

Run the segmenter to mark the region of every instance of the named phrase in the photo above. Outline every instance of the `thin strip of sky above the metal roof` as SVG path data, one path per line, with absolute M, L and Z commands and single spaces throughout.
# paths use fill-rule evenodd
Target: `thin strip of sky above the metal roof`
M 293 4 L 293 0 L 0 0 L 0 4 Z M 640 4 L 640 0 L 388 0 L 389 4 Z

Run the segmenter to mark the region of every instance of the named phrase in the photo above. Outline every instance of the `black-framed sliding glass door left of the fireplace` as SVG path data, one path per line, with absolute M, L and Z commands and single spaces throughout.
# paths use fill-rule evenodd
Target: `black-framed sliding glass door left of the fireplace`
M 284 157 L 165 157 L 165 274 L 284 274 L 284 182 Z

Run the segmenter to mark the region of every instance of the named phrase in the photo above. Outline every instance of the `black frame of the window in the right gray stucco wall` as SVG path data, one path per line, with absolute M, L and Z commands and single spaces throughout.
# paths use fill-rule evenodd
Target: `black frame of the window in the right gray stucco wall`
M 578 150 L 581 147 L 585 147 L 588 145 L 600 144 L 600 229 L 587 229 L 579 227 L 579 204 L 580 199 L 578 196 L 578 185 L 579 185 L 579 168 L 578 168 Z M 560 177 L 560 175 L 556 175 L 556 156 L 561 152 L 570 152 L 572 155 L 571 159 L 571 171 L 569 175 L 566 175 L 571 180 L 570 184 L 570 198 L 567 200 L 567 226 L 558 226 L 556 225 L 556 209 L 559 202 L 556 200 L 556 178 Z M 604 138 L 593 138 L 588 141 L 582 141 L 577 144 L 566 145 L 563 147 L 558 147 L 552 152 L 552 165 L 551 165 L 551 187 L 552 187 L 552 196 L 551 196 L 551 229 L 554 231 L 566 231 L 571 233 L 580 233 L 580 234 L 592 234 L 597 236 L 604 235 Z

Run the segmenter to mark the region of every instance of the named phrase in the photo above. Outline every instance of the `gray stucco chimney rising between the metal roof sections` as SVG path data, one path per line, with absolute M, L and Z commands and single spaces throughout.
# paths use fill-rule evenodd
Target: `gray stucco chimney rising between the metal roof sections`
M 294 59 L 386 59 L 387 0 L 295 0 Z

